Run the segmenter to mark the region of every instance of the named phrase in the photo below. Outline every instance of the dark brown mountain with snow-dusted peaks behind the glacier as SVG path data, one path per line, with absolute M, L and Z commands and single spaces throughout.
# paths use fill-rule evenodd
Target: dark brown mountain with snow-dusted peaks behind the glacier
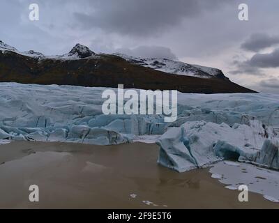
M 68 54 L 19 52 L 0 41 L 0 82 L 166 90 L 183 93 L 255 92 L 230 82 L 221 70 L 168 59 L 96 54 L 77 44 Z

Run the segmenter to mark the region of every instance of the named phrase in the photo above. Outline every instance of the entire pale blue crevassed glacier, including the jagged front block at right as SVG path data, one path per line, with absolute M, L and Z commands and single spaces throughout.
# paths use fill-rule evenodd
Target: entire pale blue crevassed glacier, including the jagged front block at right
M 165 123 L 159 114 L 104 115 L 106 89 L 0 83 L 0 141 L 112 145 L 160 137 L 158 163 L 176 171 L 223 159 L 279 167 L 278 95 L 178 93 L 178 117 Z

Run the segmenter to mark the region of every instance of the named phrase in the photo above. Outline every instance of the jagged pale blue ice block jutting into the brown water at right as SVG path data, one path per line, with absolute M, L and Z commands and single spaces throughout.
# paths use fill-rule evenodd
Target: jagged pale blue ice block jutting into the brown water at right
M 220 160 L 237 160 L 278 169 L 278 135 L 258 120 L 246 124 L 188 121 L 169 128 L 157 144 L 158 163 L 179 172 L 208 167 Z

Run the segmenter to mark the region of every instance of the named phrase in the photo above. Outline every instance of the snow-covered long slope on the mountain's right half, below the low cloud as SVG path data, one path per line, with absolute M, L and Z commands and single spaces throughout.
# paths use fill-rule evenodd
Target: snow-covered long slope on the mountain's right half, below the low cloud
M 209 68 L 204 66 L 198 66 L 188 63 L 183 63 L 180 61 L 172 61 L 163 58 L 137 58 L 134 56 L 128 56 L 126 54 L 115 54 L 116 56 L 121 56 L 126 61 L 135 63 L 146 68 L 152 68 L 155 70 L 160 70 L 174 75 L 186 75 L 192 77 L 202 77 L 202 78 L 212 78 L 218 77 L 222 79 L 227 79 L 223 72 L 216 68 Z

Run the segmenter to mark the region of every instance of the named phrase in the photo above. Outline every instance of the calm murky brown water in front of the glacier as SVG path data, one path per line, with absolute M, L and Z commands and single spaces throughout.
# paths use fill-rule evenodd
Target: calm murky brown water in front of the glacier
M 3 144 L 0 208 L 279 208 L 252 192 L 241 203 L 208 169 L 179 174 L 160 167 L 157 156 L 156 144 Z M 32 184 L 38 203 L 29 201 Z

